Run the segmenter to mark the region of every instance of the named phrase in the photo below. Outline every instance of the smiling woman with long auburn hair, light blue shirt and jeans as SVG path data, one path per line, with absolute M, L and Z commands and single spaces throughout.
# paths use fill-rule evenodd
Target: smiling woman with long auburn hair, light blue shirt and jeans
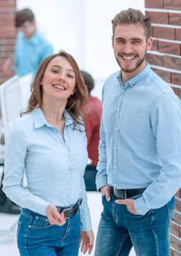
M 4 192 L 22 207 L 18 249 L 28 256 L 91 253 L 93 232 L 83 175 L 88 162 L 87 89 L 61 50 L 40 65 L 23 117 L 6 141 Z M 23 187 L 26 173 L 27 187 Z

